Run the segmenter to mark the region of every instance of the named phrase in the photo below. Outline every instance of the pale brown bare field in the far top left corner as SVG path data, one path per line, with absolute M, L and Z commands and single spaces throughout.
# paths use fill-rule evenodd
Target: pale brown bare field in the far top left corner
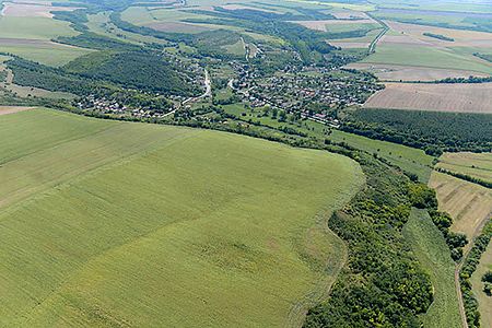
M 54 7 L 50 2 L 4 2 L 2 15 L 13 17 L 52 17 L 51 11 L 73 11 L 75 7 Z

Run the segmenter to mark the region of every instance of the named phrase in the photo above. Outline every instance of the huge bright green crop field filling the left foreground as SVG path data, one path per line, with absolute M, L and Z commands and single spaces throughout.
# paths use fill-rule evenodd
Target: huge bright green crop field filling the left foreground
M 326 220 L 364 180 L 326 152 L 47 109 L 0 136 L 1 326 L 284 326 L 342 265 Z

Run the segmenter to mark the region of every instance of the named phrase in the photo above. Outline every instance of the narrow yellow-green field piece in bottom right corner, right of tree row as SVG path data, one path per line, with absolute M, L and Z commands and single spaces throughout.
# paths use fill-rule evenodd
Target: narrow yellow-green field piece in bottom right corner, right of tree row
M 487 271 L 492 271 L 492 243 L 489 243 L 485 253 L 480 258 L 477 271 L 471 276 L 473 294 L 479 302 L 481 327 L 492 327 L 492 297 L 483 292 L 482 277 Z

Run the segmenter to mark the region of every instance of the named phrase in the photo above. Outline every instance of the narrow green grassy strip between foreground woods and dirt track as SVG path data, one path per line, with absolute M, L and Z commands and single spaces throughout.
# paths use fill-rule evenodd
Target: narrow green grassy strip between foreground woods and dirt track
M 460 316 L 455 290 L 455 265 L 437 227 L 424 210 L 413 209 L 403 234 L 422 267 L 431 276 L 434 303 L 423 315 L 425 327 L 459 328 Z

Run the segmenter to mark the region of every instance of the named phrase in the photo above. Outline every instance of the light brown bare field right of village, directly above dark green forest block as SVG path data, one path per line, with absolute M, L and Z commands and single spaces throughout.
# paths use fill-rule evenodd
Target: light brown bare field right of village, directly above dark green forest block
M 491 94 L 492 83 L 386 83 L 364 107 L 492 114 Z

